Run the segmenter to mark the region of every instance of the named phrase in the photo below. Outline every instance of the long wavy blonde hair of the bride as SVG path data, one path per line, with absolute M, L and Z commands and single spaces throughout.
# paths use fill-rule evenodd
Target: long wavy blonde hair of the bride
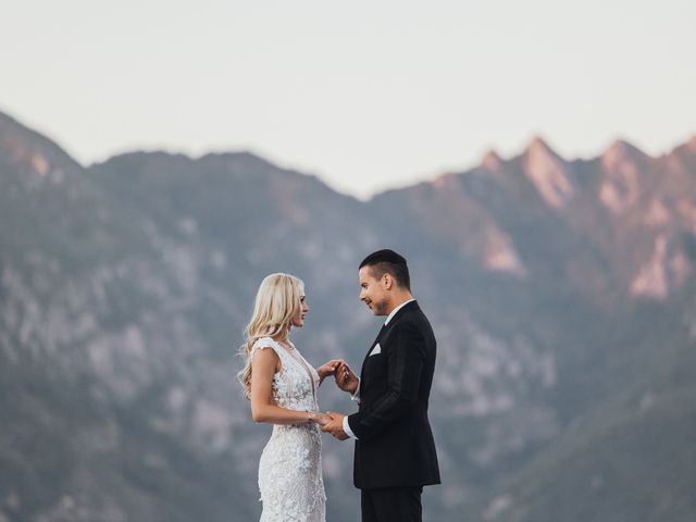
M 247 398 L 251 393 L 251 347 L 261 337 L 287 335 L 293 316 L 301 307 L 303 295 L 304 283 L 294 275 L 271 274 L 261 282 L 253 303 L 251 321 L 245 330 L 247 340 L 240 349 L 246 363 L 237 374 Z

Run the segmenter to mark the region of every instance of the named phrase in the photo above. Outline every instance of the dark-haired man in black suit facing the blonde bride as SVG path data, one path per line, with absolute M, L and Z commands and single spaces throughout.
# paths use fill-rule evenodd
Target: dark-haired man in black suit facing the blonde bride
M 352 415 L 330 412 L 322 430 L 356 439 L 353 482 L 361 489 L 362 522 L 421 522 L 423 486 L 439 484 L 427 401 L 436 343 L 410 290 L 406 259 L 393 250 L 368 256 L 358 272 L 360 300 L 386 315 L 362 364 L 346 365 L 336 384 L 352 394 Z

